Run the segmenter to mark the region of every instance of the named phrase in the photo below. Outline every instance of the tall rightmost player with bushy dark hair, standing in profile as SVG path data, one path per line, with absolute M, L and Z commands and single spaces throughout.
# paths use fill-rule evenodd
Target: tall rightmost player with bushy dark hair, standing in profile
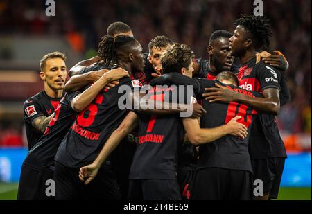
M 232 93 L 223 87 L 209 89 L 211 102 L 241 102 L 256 109 L 259 114 L 250 134 L 250 157 L 254 170 L 254 180 L 263 181 L 263 196 L 254 195 L 255 199 L 277 198 L 281 175 L 284 169 L 286 150 L 279 135 L 275 115 L 279 113 L 281 85 L 284 77 L 281 72 L 262 60 L 257 63 L 254 56 L 270 45 L 272 35 L 270 21 L 266 17 L 242 15 L 236 21 L 234 36 L 229 39 L 232 55 L 239 57 L 239 87 L 258 91 L 263 98 L 252 98 L 239 93 Z

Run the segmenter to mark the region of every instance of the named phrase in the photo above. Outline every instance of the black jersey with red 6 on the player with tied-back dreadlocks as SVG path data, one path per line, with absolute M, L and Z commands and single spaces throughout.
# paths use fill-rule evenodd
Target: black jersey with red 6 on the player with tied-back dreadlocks
M 103 66 L 92 68 L 94 71 Z M 141 87 L 139 80 L 121 78 L 119 84 L 104 89 L 92 103 L 78 114 L 71 129 L 63 139 L 55 156 L 55 161 L 71 168 L 80 168 L 92 163 L 103 148 L 103 143 L 125 118 L 126 109 L 119 109 L 119 98 L 126 92 L 119 88 L 128 86 L 131 91 Z

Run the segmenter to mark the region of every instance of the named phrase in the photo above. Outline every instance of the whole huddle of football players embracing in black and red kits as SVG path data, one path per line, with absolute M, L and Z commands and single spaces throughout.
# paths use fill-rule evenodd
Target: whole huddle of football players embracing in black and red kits
M 209 60 L 165 36 L 142 53 L 123 22 L 67 82 L 65 55 L 44 55 L 44 89 L 24 102 L 17 199 L 277 199 L 287 156 L 275 116 L 290 100 L 288 62 L 266 52 L 266 17 L 235 24 L 211 34 Z

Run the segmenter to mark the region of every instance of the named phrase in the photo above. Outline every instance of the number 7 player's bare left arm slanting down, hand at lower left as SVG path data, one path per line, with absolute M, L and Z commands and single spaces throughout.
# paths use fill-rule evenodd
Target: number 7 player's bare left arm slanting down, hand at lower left
M 94 160 L 92 164 L 83 166 L 79 171 L 79 179 L 85 184 L 89 184 L 90 181 L 96 177 L 98 169 L 101 168 L 103 162 L 110 156 L 112 151 L 119 145 L 120 141 L 132 130 L 137 127 L 139 118 L 134 112 L 129 112 L 128 115 L 123 119 L 123 122 L 119 127 L 112 133 L 109 139 L 105 142 L 100 154 Z

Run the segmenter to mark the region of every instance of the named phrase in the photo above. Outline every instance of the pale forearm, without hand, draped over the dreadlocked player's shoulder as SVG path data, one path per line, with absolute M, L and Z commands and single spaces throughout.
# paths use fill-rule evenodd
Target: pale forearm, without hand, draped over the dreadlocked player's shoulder
M 103 88 L 112 81 L 112 78 L 103 75 L 102 78 L 94 82 L 91 87 L 83 91 L 79 96 L 73 99 L 71 102 L 71 107 L 76 112 L 82 112 L 100 93 Z

